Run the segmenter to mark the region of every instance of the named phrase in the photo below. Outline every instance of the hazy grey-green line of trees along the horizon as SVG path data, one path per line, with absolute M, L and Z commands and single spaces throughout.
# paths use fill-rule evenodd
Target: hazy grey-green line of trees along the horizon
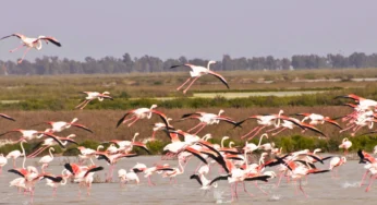
M 94 73 L 132 73 L 132 72 L 167 72 L 182 71 L 183 69 L 171 70 L 171 65 L 192 63 L 206 65 L 208 60 L 191 59 L 185 57 L 179 59 L 161 60 L 157 57 L 144 56 L 142 58 L 132 58 L 129 53 L 122 58 L 105 57 L 94 59 L 86 57 L 85 61 L 69 60 L 58 57 L 37 58 L 35 62 L 24 60 L 22 64 L 13 61 L 0 61 L 2 69 L 0 74 L 13 75 L 57 75 L 57 74 L 94 74 Z M 224 55 L 221 61 L 214 64 L 215 71 L 234 71 L 234 70 L 296 70 L 296 69 L 344 69 L 344 68 L 377 68 L 377 53 L 365 55 L 364 52 L 354 52 L 350 56 L 327 55 L 320 57 L 317 55 L 293 56 L 291 59 L 277 59 L 272 56 L 253 57 L 253 58 L 231 58 Z

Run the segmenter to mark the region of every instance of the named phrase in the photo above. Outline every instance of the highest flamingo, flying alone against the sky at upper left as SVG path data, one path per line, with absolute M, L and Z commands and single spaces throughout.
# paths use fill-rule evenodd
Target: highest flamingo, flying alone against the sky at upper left
M 61 44 L 54 37 L 48 37 L 48 36 L 38 36 L 38 38 L 29 38 L 29 37 L 26 37 L 26 36 L 22 35 L 22 34 L 11 34 L 9 36 L 4 36 L 4 37 L 0 38 L 0 40 L 9 38 L 9 37 L 12 37 L 12 36 L 15 36 L 15 37 L 20 38 L 23 44 L 21 46 L 19 46 L 17 48 L 13 49 L 13 50 L 10 50 L 10 52 L 14 52 L 14 51 L 19 50 L 20 48 L 22 48 L 24 46 L 27 47 L 27 49 L 25 50 L 22 59 L 17 61 L 19 64 L 22 63 L 22 61 L 24 60 L 26 53 L 32 48 L 35 48 L 37 50 L 41 49 L 41 40 L 45 40 L 46 44 L 48 44 L 50 41 L 53 45 L 56 45 L 58 47 L 61 47 Z

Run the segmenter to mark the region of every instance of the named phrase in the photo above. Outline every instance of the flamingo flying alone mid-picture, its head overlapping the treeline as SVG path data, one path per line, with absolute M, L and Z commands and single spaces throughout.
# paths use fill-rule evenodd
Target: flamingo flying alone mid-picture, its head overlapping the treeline
M 220 75 L 219 73 L 216 73 L 211 70 L 209 70 L 209 65 L 216 63 L 216 61 L 209 61 L 207 64 L 207 68 L 204 67 L 198 67 L 198 65 L 193 65 L 193 64 L 179 64 L 179 65 L 172 65 L 170 69 L 174 69 L 178 67 L 185 67 L 185 68 L 190 68 L 190 77 L 187 79 L 187 81 L 185 81 L 181 86 L 179 86 L 177 88 L 177 91 L 180 91 L 185 84 L 187 84 L 190 82 L 190 80 L 193 79 L 193 81 L 190 83 L 190 85 L 183 91 L 183 94 L 185 94 L 187 92 L 187 89 L 194 84 L 194 82 L 199 79 L 200 76 L 205 75 L 205 74 L 211 74 L 214 76 L 216 76 L 217 79 L 219 79 L 228 88 L 229 85 L 227 83 L 227 80 Z

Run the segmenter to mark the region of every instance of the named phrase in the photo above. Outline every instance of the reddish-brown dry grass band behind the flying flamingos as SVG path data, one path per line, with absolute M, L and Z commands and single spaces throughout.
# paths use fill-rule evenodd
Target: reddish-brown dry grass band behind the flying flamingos
M 180 117 L 184 113 L 193 112 L 193 111 L 206 111 L 217 113 L 220 108 L 210 108 L 210 109 L 158 109 L 165 112 L 168 117 L 173 119 L 172 124 L 177 129 L 187 130 L 194 126 L 197 121 L 196 120 L 186 120 L 175 122 L 175 120 L 180 119 Z M 236 109 L 230 108 L 226 109 L 224 116 L 228 116 L 235 121 L 243 120 L 252 114 L 258 113 L 277 113 L 279 109 L 283 109 L 285 114 L 289 113 L 297 113 L 297 112 L 317 112 L 323 113 L 329 117 L 339 117 L 342 114 L 346 114 L 350 112 L 350 108 L 348 107 L 337 107 L 337 106 L 328 106 L 328 107 L 282 107 L 282 108 L 245 108 L 245 109 Z M 94 131 L 94 134 L 88 133 L 86 131 L 82 131 L 80 129 L 72 128 L 71 130 L 64 131 L 61 135 L 68 135 L 71 133 L 75 133 L 77 135 L 76 140 L 82 142 L 84 140 L 96 140 L 96 141 L 108 141 L 108 140 L 131 140 L 135 132 L 139 132 L 141 138 L 146 138 L 151 136 L 151 128 L 153 123 L 160 121 L 158 117 L 153 117 L 150 120 L 141 120 L 136 122 L 131 128 L 126 126 L 126 124 L 120 125 L 115 129 L 115 124 L 118 120 L 125 113 L 125 110 L 82 110 L 82 111 L 9 111 L 8 114 L 14 117 L 17 121 L 11 122 L 8 120 L 0 121 L 0 132 L 5 132 L 13 129 L 33 129 L 33 130 L 44 130 L 48 128 L 46 124 L 31 126 L 32 124 L 42 122 L 42 121 L 71 121 L 73 118 L 78 118 L 78 123 L 85 124 Z M 204 135 L 206 133 L 211 133 L 214 137 L 222 137 L 222 136 L 231 136 L 234 140 L 239 140 L 241 135 L 247 133 L 252 128 L 256 125 L 255 121 L 250 120 L 243 124 L 243 128 L 232 129 L 231 124 L 227 124 L 221 122 L 217 125 L 210 125 L 204 129 L 199 135 Z M 330 124 L 318 125 L 318 128 L 328 134 L 330 137 L 340 137 L 338 133 L 338 129 Z M 360 133 L 362 133 L 361 131 Z M 281 133 L 281 135 L 291 135 L 291 134 L 300 134 L 299 129 L 294 131 L 285 131 Z M 2 137 L 11 137 L 16 138 L 20 134 L 13 133 L 8 134 Z M 313 132 L 306 132 L 306 135 L 317 136 Z M 158 138 L 167 140 L 165 133 L 160 132 L 157 135 Z

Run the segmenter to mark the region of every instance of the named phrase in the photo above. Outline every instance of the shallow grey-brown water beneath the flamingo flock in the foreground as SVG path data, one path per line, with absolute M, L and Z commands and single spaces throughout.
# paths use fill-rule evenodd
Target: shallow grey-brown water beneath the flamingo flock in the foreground
M 47 169 L 48 172 L 59 174 L 63 169 L 68 158 L 56 158 Z M 38 159 L 27 160 L 27 165 L 35 166 Z M 71 162 L 75 158 L 70 158 Z M 188 161 L 185 168 L 185 173 L 177 178 L 177 184 L 170 184 L 169 179 L 161 178 L 159 174 L 151 177 L 155 186 L 148 186 L 147 180 L 141 177 L 141 184 L 133 183 L 120 188 L 117 179 L 117 171 L 120 168 L 130 169 L 136 161 L 144 162 L 147 166 L 154 164 L 170 164 L 177 166 L 175 160 L 161 160 L 160 157 L 136 157 L 121 160 L 114 171 L 114 182 L 112 183 L 94 183 L 92 195 L 86 195 L 86 190 L 82 190 L 82 196 L 78 197 L 78 186 L 75 183 L 68 182 L 64 186 L 58 188 L 57 196 L 52 197 L 52 189 L 46 185 L 46 181 L 41 180 L 36 185 L 34 204 L 222 204 L 230 203 L 230 186 L 227 181 L 220 181 L 218 188 L 211 189 L 205 194 L 199 190 L 199 184 L 190 180 L 190 176 L 198 165 L 196 159 Z M 9 182 L 17 178 L 14 173 L 9 173 L 5 170 L 11 168 L 11 161 L 4 167 L 4 172 L 0 176 L 0 204 L 32 204 L 28 195 L 17 193 L 15 188 L 9 188 Z M 17 160 L 21 166 L 22 159 Z M 105 166 L 106 170 L 97 172 L 102 180 L 108 167 L 104 161 L 98 162 Z M 327 161 L 328 164 L 328 161 Z M 318 168 L 327 168 L 328 165 L 319 166 Z M 273 170 L 273 169 L 272 169 Z M 214 167 L 211 173 L 207 177 L 212 179 L 217 176 L 218 168 Z M 279 188 L 275 188 L 278 179 L 271 179 L 269 182 L 259 182 L 259 186 L 268 192 L 268 195 L 263 194 L 254 182 L 246 182 L 247 190 L 254 194 L 250 196 L 243 192 L 240 184 L 238 188 L 239 200 L 235 204 L 375 204 L 377 200 L 377 188 L 373 188 L 368 193 L 365 193 L 365 185 L 360 188 L 360 180 L 364 173 L 363 165 L 357 161 L 348 161 L 346 165 L 339 169 L 339 178 L 332 179 L 331 173 L 313 174 L 308 177 L 307 182 L 303 180 L 303 188 L 308 194 L 305 198 L 301 193 L 295 193 L 293 182 L 287 183 L 282 180 Z M 376 183 L 377 184 L 377 183 Z

